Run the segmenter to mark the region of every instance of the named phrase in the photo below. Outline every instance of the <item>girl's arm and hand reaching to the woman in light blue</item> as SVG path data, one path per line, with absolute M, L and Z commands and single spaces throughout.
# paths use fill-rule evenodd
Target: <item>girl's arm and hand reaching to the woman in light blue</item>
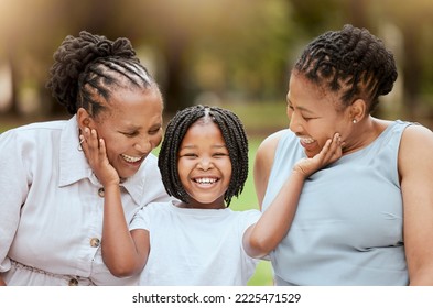
M 275 199 L 243 235 L 243 246 L 250 256 L 263 257 L 277 248 L 292 224 L 305 178 L 340 156 L 342 142 L 339 134 L 335 134 L 333 140 L 326 142 L 321 153 L 293 166 Z

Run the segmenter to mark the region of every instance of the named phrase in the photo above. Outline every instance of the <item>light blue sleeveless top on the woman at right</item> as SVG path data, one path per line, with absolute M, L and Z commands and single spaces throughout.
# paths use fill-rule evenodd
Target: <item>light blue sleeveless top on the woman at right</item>
M 408 285 L 398 151 L 409 122 L 313 174 L 286 238 L 271 253 L 279 285 Z M 299 139 L 280 140 L 263 209 L 300 158 Z

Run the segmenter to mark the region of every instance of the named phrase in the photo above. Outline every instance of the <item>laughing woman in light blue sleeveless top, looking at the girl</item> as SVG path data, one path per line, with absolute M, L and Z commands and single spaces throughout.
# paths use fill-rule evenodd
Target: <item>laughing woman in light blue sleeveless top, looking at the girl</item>
M 289 232 L 271 253 L 278 285 L 433 285 L 433 133 L 371 116 L 397 79 L 392 54 L 345 25 L 312 41 L 289 81 L 289 129 L 255 162 L 266 211 L 292 166 L 334 133 L 343 156 L 304 184 Z

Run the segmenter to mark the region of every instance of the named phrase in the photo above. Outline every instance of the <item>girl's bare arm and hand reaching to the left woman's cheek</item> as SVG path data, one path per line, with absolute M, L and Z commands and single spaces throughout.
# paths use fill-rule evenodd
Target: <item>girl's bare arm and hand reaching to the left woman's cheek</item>
M 102 139 L 98 141 L 95 130 L 85 129 L 82 147 L 95 175 L 104 185 L 102 258 L 116 276 L 130 276 L 139 273 L 149 254 L 149 232 L 129 232 L 120 198 L 119 175 L 110 165 Z

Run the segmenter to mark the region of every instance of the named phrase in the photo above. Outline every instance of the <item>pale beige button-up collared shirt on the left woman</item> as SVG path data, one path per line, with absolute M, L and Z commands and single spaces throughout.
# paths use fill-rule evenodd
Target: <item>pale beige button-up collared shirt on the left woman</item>
M 76 118 L 0 134 L 0 272 L 10 285 L 123 285 L 102 262 L 104 194 L 78 151 Z M 104 193 L 104 191 L 102 191 Z M 121 184 L 126 218 L 171 199 L 156 157 Z

